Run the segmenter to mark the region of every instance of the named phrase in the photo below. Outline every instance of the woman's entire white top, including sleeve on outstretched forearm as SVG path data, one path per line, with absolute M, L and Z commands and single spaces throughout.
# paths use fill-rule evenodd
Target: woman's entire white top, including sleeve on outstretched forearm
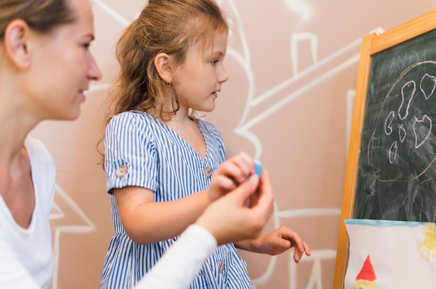
M 31 160 L 36 204 L 29 228 L 19 226 L 0 196 L 0 288 L 49 288 L 53 274 L 49 213 L 54 199 L 55 167 L 49 151 L 38 140 L 25 143 Z M 187 288 L 217 241 L 193 224 L 164 254 L 134 289 Z

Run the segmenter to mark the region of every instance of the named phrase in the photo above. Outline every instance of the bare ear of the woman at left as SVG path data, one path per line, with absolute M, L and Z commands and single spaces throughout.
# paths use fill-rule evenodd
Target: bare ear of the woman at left
M 22 19 L 8 24 L 4 35 L 6 56 L 19 68 L 26 69 L 31 63 L 30 28 Z

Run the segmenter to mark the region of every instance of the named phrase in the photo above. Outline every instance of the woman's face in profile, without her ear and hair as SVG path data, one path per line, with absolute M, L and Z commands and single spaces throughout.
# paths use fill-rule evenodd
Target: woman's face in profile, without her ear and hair
M 84 91 L 101 72 L 89 45 L 94 39 L 89 0 L 70 0 L 77 19 L 48 35 L 32 32 L 31 77 L 26 94 L 41 119 L 76 119 Z

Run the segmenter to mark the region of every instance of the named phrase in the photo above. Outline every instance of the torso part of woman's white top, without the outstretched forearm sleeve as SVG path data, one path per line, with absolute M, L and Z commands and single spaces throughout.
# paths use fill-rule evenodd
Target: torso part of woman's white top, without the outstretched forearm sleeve
M 42 142 L 27 138 L 35 208 L 24 229 L 15 222 L 0 196 L 0 288 L 49 288 L 53 276 L 49 213 L 54 199 L 55 166 Z

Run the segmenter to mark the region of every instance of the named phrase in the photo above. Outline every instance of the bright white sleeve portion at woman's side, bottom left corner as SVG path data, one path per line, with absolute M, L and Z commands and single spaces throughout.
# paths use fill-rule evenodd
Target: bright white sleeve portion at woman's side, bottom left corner
M 40 289 L 29 271 L 20 263 L 17 255 L 4 238 L 0 224 L 0 288 L 4 289 Z

